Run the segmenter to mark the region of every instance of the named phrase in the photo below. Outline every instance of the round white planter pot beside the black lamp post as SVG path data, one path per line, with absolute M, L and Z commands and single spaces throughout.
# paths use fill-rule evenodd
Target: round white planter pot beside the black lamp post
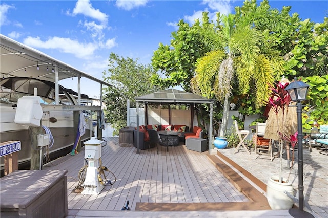
M 294 195 L 294 188 L 291 182 L 286 182 L 286 178 L 282 178 L 283 183 L 276 182 L 278 178 L 278 176 L 273 176 L 268 179 L 268 203 L 273 210 L 288 210 L 293 207 L 293 199 L 289 198 L 284 191 Z

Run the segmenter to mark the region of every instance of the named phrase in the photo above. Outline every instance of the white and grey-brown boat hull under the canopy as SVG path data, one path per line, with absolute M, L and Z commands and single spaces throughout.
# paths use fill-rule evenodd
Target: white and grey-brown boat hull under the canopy
M 0 142 L 20 141 L 21 150 L 18 151 L 18 167 L 19 169 L 29 168 L 31 149 L 37 149 L 38 147 L 37 145 L 31 145 L 31 132 L 29 127 L 14 123 L 15 112 L 16 107 L 1 106 Z M 50 122 L 50 120 L 52 122 Z M 53 120 L 56 120 L 56 122 L 53 122 Z M 52 147 L 49 148 L 49 157 L 51 160 L 67 155 L 72 151 L 75 142 L 73 122 L 72 111 L 44 113 L 42 125 L 49 128 L 54 138 L 54 143 Z M 81 142 L 90 139 L 90 124 L 87 124 L 87 126 L 86 133 L 81 136 Z M 0 164 L 1 169 L 3 169 L 3 157 L 0 160 Z

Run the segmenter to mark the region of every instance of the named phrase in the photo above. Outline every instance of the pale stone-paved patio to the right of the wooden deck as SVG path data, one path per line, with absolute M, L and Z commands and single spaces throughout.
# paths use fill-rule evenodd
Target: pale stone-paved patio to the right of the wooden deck
M 254 150 L 251 155 L 243 149 L 235 152 L 235 148 L 219 150 L 221 154 L 230 158 L 239 166 L 249 171 L 259 180 L 268 183 L 269 176 L 278 175 L 280 158 L 271 162 L 269 156 L 262 154 L 255 159 Z M 304 184 L 304 210 L 311 212 L 315 217 L 328 217 L 328 152 L 313 148 L 303 147 L 303 184 Z M 283 153 L 283 177 L 292 181 L 294 189 L 298 189 L 298 152 L 295 151 L 295 162 L 292 170 L 287 167 L 286 152 Z M 306 204 L 309 208 L 306 208 Z M 296 203 L 298 205 L 298 203 Z

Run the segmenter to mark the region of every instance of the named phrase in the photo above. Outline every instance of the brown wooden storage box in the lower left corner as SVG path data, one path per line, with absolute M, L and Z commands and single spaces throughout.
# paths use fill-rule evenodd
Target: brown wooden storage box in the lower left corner
M 17 170 L 0 180 L 1 217 L 65 217 L 67 170 Z

